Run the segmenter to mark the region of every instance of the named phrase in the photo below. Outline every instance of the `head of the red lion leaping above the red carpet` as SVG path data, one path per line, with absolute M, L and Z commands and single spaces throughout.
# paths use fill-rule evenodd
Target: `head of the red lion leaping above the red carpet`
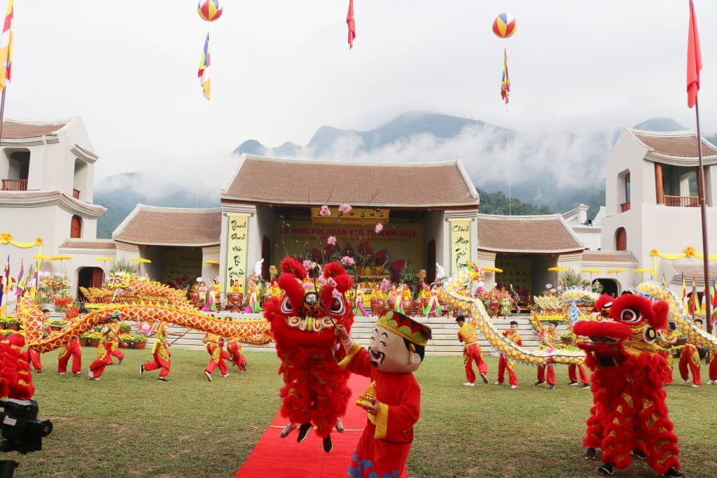
M 326 345 L 334 338 L 334 325 L 351 325 L 353 312 L 346 300 L 353 279 L 338 262 L 323 271 L 315 263 L 286 257 L 277 284 L 281 297 L 265 302 L 264 315 L 272 323 L 277 343 Z

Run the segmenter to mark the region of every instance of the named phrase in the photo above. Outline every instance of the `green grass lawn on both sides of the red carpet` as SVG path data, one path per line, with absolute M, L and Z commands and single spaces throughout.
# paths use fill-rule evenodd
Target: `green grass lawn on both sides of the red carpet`
M 42 451 L 6 454 L 20 462 L 17 477 L 232 477 L 279 408 L 273 353 L 247 353 L 247 373 L 233 368 L 222 378 L 215 371 L 212 383 L 202 373 L 204 352 L 174 350 L 170 383 L 156 381 L 156 371 L 139 378 L 148 349 L 125 353 L 98 382 L 86 375 L 94 349 L 83 348 L 82 378 L 58 376 L 57 353 L 43 355 L 34 398 L 54 431 Z M 533 387 L 535 369 L 521 365 L 517 390 L 493 386 L 497 365 L 489 357 L 491 383 L 474 388 L 461 385 L 460 357 L 429 356 L 421 365 L 410 476 L 598 476 L 597 462 L 583 459 L 581 448 L 591 393 L 567 386 L 565 366 L 554 391 Z M 668 393 L 683 469 L 689 477 L 717 476 L 717 386 L 673 386 Z M 656 476 L 642 462 L 618 473 Z

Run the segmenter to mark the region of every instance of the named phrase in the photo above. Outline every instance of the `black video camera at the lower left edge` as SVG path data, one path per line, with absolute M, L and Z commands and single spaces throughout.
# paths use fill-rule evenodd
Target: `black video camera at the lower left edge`
M 0 413 L 3 438 L 0 451 L 27 454 L 29 451 L 42 450 L 42 437 L 52 432 L 52 421 L 37 419 L 37 402 L 3 398 L 0 399 L 0 406 L 4 408 Z

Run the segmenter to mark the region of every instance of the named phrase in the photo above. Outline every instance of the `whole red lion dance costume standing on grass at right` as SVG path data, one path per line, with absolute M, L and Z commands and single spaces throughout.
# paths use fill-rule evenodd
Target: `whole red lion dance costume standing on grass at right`
M 667 327 L 669 306 L 632 294 L 610 302 L 603 295 L 595 303 L 602 315 L 609 309 L 608 317 L 573 327 L 576 335 L 590 338 L 578 344 L 593 371 L 585 457 L 594 459 L 601 448 L 598 471 L 603 474 L 613 474 L 614 467 L 625 469 L 637 457 L 665 477 L 683 477 L 663 390 L 668 364 L 653 345 L 657 330 Z

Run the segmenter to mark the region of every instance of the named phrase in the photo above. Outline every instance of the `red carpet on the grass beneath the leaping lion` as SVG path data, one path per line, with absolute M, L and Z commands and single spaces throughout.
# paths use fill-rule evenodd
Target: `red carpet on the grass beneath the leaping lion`
M 296 442 L 298 429 L 286 438 L 280 438 L 279 433 L 288 422 L 277 414 L 234 478 L 346 477 L 351 455 L 366 425 L 366 412 L 354 402 L 359 393 L 369 387 L 369 379 L 351 375 L 348 386 L 351 388 L 351 398 L 346 407 L 346 416 L 342 418 L 346 431 L 343 434 L 336 431 L 331 434 L 333 450 L 330 453 L 323 451 L 321 439 L 313 430 L 301 443 Z M 403 474 L 401 478 L 407 476 Z

